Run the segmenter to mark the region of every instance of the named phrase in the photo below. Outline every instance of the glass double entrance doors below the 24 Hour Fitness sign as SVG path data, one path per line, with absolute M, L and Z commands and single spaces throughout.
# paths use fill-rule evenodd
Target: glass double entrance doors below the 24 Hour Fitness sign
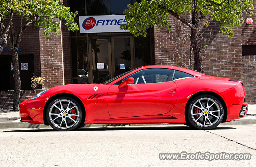
M 105 82 L 134 68 L 132 37 L 91 38 L 89 49 L 90 83 Z

